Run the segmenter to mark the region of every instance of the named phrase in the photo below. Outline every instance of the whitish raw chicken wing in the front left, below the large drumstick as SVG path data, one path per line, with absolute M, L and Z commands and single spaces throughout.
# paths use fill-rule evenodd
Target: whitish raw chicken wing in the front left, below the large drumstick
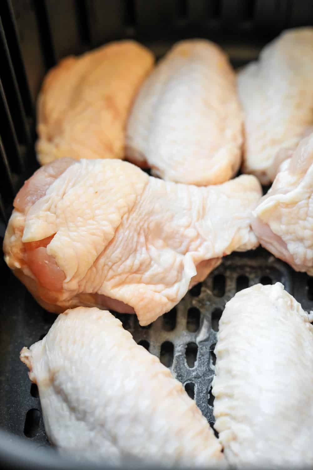
M 111 313 L 68 310 L 21 360 L 38 385 L 47 436 L 61 450 L 106 463 L 131 456 L 168 466 L 223 463 L 182 384 Z

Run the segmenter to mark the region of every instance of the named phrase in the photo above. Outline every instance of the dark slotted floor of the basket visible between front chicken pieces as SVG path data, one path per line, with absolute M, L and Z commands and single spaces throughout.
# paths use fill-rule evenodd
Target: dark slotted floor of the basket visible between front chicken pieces
M 5 276 L 0 292 L 0 427 L 46 446 L 38 389 L 31 385 L 19 352 L 46 335 L 55 315 L 35 302 L 4 263 L 0 272 Z M 212 425 L 214 345 L 225 303 L 238 290 L 278 281 L 305 310 L 313 308 L 313 280 L 258 249 L 224 258 L 205 282 L 148 327 L 140 327 L 135 315 L 116 316 L 137 343 L 171 368 Z

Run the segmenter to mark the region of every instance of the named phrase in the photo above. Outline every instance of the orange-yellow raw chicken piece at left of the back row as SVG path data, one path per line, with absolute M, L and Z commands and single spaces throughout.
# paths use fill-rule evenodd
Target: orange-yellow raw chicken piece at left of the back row
M 153 62 L 151 51 L 130 40 L 61 60 L 38 98 L 39 163 L 123 158 L 130 106 Z

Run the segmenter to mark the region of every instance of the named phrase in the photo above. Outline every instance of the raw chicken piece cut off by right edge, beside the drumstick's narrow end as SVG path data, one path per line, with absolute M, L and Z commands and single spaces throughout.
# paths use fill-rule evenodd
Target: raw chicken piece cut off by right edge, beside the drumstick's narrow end
M 290 154 L 253 211 L 252 228 L 277 258 L 313 275 L 313 133 Z

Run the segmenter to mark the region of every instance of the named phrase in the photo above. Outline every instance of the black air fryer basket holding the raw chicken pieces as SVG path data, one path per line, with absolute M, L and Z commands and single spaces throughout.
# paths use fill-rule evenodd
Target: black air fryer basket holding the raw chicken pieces
M 2 0 L 0 19 L 2 242 L 13 197 L 38 167 L 33 149 L 35 100 L 44 74 L 59 59 L 122 38 L 137 39 L 160 57 L 176 40 L 204 37 L 221 44 L 239 67 L 255 59 L 260 48 L 283 29 L 313 24 L 313 3 Z M 42 338 L 55 315 L 33 300 L 2 256 L 0 274 L 0 462 L 12 468 L 79 468 L 49 448 L 37 386 L 31 385 L 19 360 L 21 348 Z M 138 343 L 171 368 L 212 425 L 213 351 L 225 303 L 238 290 L 277 281 L 305 310 L 313 308 L 313 279 L 259 248 L 226 257 L 205 282 L 148 327 L 140 327 L 135 315 L 117 316 Z

